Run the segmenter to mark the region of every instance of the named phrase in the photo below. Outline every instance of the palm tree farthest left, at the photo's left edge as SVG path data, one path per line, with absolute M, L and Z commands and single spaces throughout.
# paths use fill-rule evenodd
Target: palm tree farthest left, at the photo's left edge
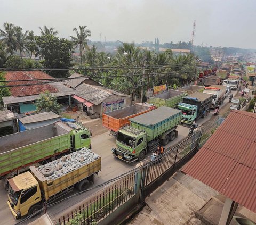
M 13 54 L 13 50 L 17 47 L 17 39 L 15 37 L 15 26 L 12 23 L 4 22 L 4 30 L 0 29 L 0 37 L 2 43 L 6 44 L 8 51 Z

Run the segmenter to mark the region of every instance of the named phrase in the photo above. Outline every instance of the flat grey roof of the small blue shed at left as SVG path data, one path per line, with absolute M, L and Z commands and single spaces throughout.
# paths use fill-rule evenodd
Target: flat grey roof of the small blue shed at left
M 55 118 L 60 118 L 60 115 L 50 111 L 50 112 L 37 113 L 35 115 L 27 115 L 25 117 L 20 118 L 19 120 L 23 124 L 28 124 L 28 123 L 45 121 L 45 120 L 52 120 Z

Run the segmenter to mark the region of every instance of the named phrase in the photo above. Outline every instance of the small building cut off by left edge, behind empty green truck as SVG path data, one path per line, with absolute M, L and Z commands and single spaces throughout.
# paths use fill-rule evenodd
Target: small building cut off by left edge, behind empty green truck
M 0 136 L 17 132 L 16 116 L 10 110 L 0 111 Z

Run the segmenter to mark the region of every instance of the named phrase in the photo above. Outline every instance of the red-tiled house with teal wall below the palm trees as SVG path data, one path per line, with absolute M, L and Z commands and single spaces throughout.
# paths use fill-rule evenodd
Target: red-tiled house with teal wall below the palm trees
M 57 96 L 57 102 L 63 106 L 71 105 L 71 95 L 75 91 L 62 82 L 54 82 L 54 78 L 42 71 L 8 71 L 5 73 L 7 85 L 11 87 L 12 96 L 3 97 L 5 109 L 14 113 L 29 113 L 36 110 L 35 102 L 40 93 L 49 91 Z M 52 79 L 51 83 L 44 83 L 36 79 Z M 19 85 L 19 86 L 17 86 Z

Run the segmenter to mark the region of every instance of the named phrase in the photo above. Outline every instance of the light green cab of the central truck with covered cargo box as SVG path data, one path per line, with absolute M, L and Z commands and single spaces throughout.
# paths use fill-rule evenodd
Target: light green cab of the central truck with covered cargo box
M 147 134 L 143 130 L 124 126 L 117 132 L 116 145 L 112 152 L 119 159 L 126 162 L 134 162 L 137 158 L 142 160 L 145 157 L 143 150 L 147 148 Z

